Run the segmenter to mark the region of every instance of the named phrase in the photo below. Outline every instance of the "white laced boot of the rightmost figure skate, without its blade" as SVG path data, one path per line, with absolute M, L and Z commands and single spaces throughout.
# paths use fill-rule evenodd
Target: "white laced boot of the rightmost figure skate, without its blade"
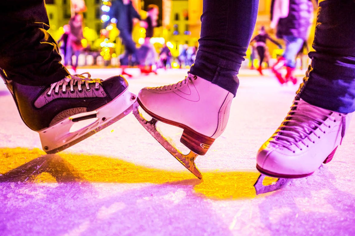
M 295 100 L 280 127 L 259 149 L 256 168 L 276 178 L 312 175 L 322 163 L 332 160 L 350 118 L 350 113 Z

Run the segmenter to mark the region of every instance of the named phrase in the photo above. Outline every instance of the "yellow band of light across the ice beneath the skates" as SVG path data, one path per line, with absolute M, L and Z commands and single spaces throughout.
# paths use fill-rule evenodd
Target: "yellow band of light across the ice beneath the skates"
M 183 183 L 191 185 L 200 197 L 216 200 L 254 198 L 253 184 L 259 175 L 256 171 L 209 171 L 203 172 L 200 180 L 182 166 L 179 171 L 167 171 L 117 157 L 67 152 L 45 155 L 40 149 L 26 148 L 0 149 L 0 174 L 9 182 Z

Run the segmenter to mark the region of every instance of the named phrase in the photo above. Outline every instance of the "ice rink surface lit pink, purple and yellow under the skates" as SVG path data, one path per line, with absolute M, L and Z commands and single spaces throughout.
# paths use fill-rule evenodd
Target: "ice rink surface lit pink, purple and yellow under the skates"
M 107 78 L 119 69 L 78 69 Z M 187 70 L 127 78 L 130 90 Z M 265 71 L 268 74 L 267 71 Z M 256 152 L 282 122 L 298 85 L 241 71 L 225 132 L 197 179 L 132 114 L 65 151 L 45 155 L 0 83 L 0 235 L 355 235 L 355 122 L 331 162 L 256 195 Z M 301 82 L 301 77 L 299 77 Z M 161 129 L 178 143 L 181 130 Z M 269 179 L 269 181 L 272 181 Z

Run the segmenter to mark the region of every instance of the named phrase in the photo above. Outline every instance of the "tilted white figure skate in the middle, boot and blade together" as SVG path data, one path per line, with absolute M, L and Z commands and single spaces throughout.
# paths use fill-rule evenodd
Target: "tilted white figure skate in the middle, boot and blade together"
M 195 166 L 197 155 L 206 154 L 213 141 L 224 131 L 233 94 L 229 91 L 189 74 L 185 80 L 161 87 L 143 88 L 137 98 L 141 108 L 153 119 L 145 120 L 138 112 L 133 114 L 152 136 L 198 178 Z M 182 154 L 155 129 L 157 121 L 184 129 L 180 142 L 191 151 Z

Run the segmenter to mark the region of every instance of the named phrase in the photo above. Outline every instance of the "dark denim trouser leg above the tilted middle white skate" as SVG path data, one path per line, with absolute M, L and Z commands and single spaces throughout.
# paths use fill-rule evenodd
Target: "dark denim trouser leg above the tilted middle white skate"
M 236 94 L 255 27 L 258 0 L 203 0 L 201 37 L 190 73 Z

